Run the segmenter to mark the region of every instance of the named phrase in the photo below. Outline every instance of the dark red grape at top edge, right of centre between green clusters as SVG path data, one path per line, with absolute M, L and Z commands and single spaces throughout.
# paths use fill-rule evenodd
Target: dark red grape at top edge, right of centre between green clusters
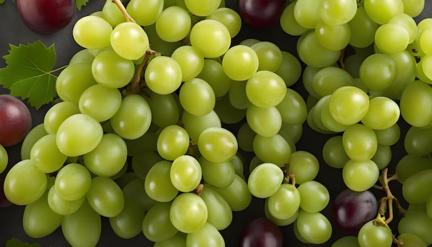
M 279 21 L 286 0 L 239 0 L 239 14 L 254 28 L 268 28 Z

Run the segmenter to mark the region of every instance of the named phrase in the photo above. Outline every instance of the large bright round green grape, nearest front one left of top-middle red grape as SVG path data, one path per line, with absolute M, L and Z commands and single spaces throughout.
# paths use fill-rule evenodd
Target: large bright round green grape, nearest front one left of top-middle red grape
M 219 21 L 204 19 L 193 26 L 189 34 L 190 44 L 206 58 L 220 57 L 230 48 L 231 36 L 228 28 Z

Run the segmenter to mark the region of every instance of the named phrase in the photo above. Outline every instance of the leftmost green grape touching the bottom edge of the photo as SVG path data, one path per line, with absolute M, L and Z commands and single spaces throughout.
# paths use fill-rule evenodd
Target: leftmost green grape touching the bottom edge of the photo
M 61 232 L 71 246 L 96 246 L 101 230 L 101 216 L 87 201 L 75 213 L 61 219 Z

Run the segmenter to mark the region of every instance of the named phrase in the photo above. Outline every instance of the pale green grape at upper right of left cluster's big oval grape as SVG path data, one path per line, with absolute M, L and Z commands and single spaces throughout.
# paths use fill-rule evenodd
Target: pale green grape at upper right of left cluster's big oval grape
M 92 116 L 99 122 L 107 121 L 121 105 L 121 92 L 117 88 L 107 88 L 101 84 L 90 86 L 79 97 L 81 113 Z

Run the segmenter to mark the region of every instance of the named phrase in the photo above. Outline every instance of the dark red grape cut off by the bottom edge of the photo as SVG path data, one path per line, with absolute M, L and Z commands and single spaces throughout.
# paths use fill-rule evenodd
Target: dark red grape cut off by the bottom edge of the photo
M 279 226 L 265 217 L 249 222 L 240 235 L 239 247 L 282 247 L 284 237 Z

